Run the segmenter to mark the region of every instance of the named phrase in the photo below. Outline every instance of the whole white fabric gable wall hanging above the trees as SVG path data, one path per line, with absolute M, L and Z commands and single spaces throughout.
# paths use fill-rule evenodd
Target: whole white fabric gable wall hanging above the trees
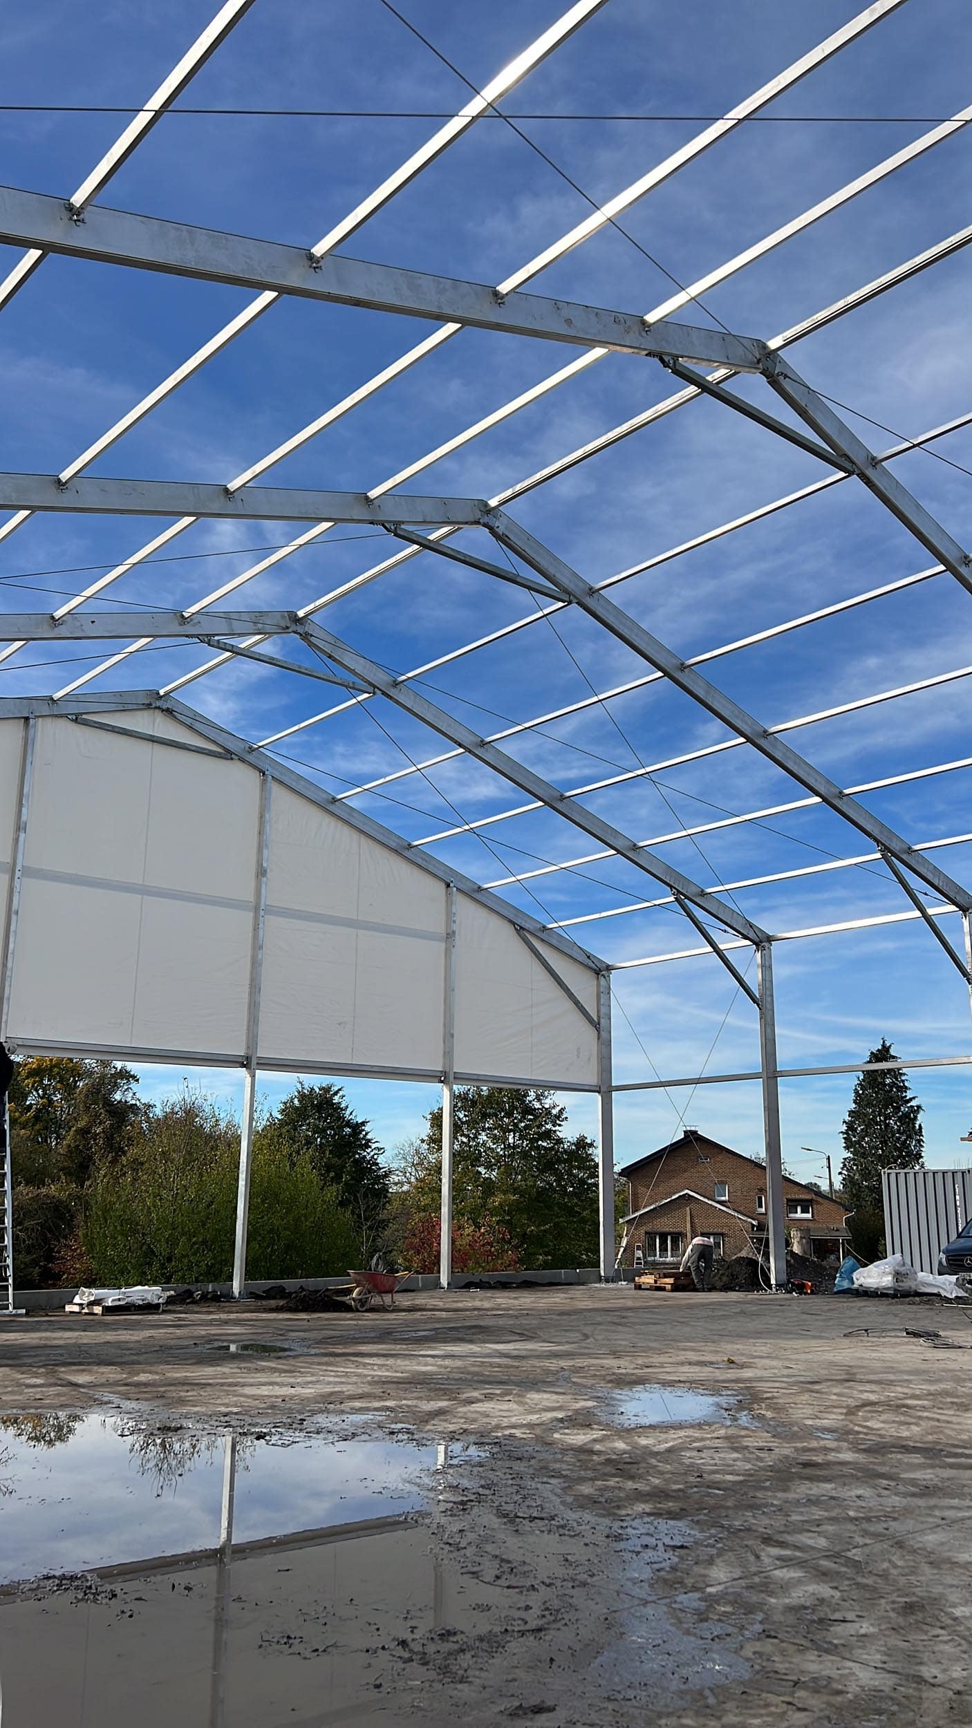
M 35 722 L 19 895 L 10 866 L 26 722 L 0 721 L 9 1040 L 438 1078 L 446 883 L 292 785 L 202 753 L 206 738 L 168 714 L 100 719 L 144 736 Z M 597 973 L 531 940 L 597 1014 Z M 598 1075 L 595 1028 L 512 923 L 462 890 L 455 1073 L 592 1089 Z

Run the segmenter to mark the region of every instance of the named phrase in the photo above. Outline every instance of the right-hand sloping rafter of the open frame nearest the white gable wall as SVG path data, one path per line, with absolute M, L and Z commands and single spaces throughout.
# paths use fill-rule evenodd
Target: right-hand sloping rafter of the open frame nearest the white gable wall
M 692 905 L 709 912 L 711 918 L 716 918 L 728 930 L 737 931 L 745 938 L 745 942 L 759 945 L 768 940 L 759 926 L 752 924 L 751 919 L 744 918 L 744 914 L 733 905 L 728 905 L 718 895 L 709 893 L 709 890 L 700 888 L 690 876 L 683 876 L 681 871 L 673 869 L 671 864 L 657 859 L 652 852 L 643 847 L 636 847 L 628 835 L 621 833 L 621 829 L 614 828 L 611 823 L 605 823 L 600 816 L 595 816 L 593 810 L 571 804 L 550 781 L 534 774 L 533 769 L 517 762 L 514 757 L 508 757 L 503 750 L 496 750 L 495 745 L 488 745 L 483 738 L 477 738 L 469 726 L 464 726 L 462 721 L 457 721 L 455 715 L 448 714 L 444 708 L 436 707 L 436 703 L 429 702 L 427 696 L 401 686 L 391 672 L 386 672 L 375 660 L 368 660 L 367 655 L 358 653 L 356 648 L 341 641 L 339 636 L 332 636 L 330 631 L 322 629 L 320 624 L 313 624 L 311 620 L 304 620 L 303 636 L 311 648 L 317 648 L 334 665 L 342 667 L 344 672 L 360 679 L 361 684 L 370 684 L 375 695 L 387 696 L 387 700 L 393 702 L 394 707 L 403 708 L 405 714 L 422 721 L 443 738 L 451 738 L 453 743 L 460 743 L 469 755 L 476 757 L 477 762 L 491 767 L 493 772 L 508 779 L 510 785 L 521 786 L 522 791 L 538 798 L 543 805 L 547 805 L 547 809 L 562 816 L 567 823 L 572 823 L 574 828 L 581 828 L 585 833 L 611 845 L 619 857 L 628 859 L 628 862 L 645 871 L 647 876 L 654 876 L 655 881 L 662 881 L 668 888 L 690 900 Z M 337 804 L 337 800 L 334 802 Z M 339 805 L 339 809 L 348 809 L 348 805 Z

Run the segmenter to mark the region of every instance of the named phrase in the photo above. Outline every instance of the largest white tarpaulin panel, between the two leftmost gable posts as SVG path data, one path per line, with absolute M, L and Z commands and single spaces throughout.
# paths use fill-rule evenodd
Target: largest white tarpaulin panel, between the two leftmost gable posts
M 258 807 L 242 764 L 38 721 L 10 1037 L 242 1056 Z

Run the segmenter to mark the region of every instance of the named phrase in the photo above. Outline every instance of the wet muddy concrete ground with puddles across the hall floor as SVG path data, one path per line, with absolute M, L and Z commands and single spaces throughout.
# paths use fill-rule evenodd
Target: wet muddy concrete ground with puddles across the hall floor
M 3 1728 L 965 1725 L 970 1346 L 583 1286 L 3 1322 Z

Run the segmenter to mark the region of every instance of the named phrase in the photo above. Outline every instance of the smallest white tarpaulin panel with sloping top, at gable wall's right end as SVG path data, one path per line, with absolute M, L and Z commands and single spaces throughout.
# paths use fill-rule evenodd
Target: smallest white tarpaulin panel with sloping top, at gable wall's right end
M 597 1014 L 597 975 L 533 940 L 588 1013 Z M 593 1026 L 514 926 L 464 893 L 457 919 L 455 1070 L 548 1085 L 597 1085 Z

